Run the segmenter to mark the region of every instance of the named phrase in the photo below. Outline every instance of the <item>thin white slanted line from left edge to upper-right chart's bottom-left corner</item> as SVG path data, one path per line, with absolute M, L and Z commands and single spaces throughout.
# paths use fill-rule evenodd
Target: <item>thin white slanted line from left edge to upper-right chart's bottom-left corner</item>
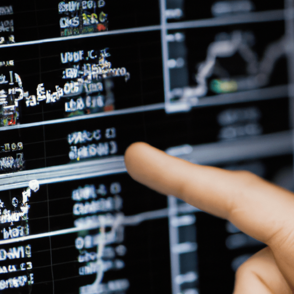
M 113 110 L 113 111 L 106 111 L 106 112 L 92 113 L 92 114 L 86 114 L 86 115 L 81 115 L 81 116 L 53 119 L 50 121 L 38 121 L 35 123 L 23 123 L 23 124 L 14 125 L 14 126 L 4 126 L 4 127 L 0 127 L 0 131 L 19 129 L 19 128 L 29 128 L 29 127 L 35 127 L 35 126 L 44 126 L 44 125 L 50 125 L 50 124 L 54 124 L 54 123 L 66 123 L 69 121 L 79 121 L 79 120 L 89 119 L 89 118 L 138 113 L 138 112 L 160 110 L 160 109 L 164 109 L 164 103 L 156 103 L 156 104 L 150 104 L 150 105 L 144 105 L 144 106 L 135 106 L 135 107 Z

